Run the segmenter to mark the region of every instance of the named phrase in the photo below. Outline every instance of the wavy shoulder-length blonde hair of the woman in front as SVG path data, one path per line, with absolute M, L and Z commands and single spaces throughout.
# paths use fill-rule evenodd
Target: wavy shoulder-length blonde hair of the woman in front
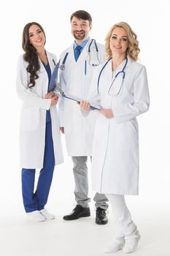
M 116 23 L 114 26 L 112 26 L 112 28 L 109 30 L 107 34 L 107 37 L 105 38 L 105 50 L 106 50 L 107 59 L 112 57 L 112 50 L 109 47 L 109 42 L 110 42 L 110 37 L 112 36 L 112 31 L 115 28 L 125 29 L 126 33 L 128 34 L 128 42 L 129 42 L 128 49 L 127 49 L 127 56 L 133 61 L 137 61 L 138 55 L 140 52 L 137 35 L 131 29 L 131 26 L 129 26 L 128 23 L 125 23 L 125 22 Z

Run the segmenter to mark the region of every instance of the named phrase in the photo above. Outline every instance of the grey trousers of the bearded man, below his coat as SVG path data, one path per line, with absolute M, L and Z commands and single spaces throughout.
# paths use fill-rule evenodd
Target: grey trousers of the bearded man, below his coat
M 72 160 L 74 162 L 75 200 L 80 206 L 88 207 L 90 202 L 88 197 L 88 157 L 72 157 Z M 107 210 L 108 204 L 106 202 L 108 202 L 108 199 L 104 194 L 96 193 L 93 200 L 96 202 L 96 208 L 100 207 Z

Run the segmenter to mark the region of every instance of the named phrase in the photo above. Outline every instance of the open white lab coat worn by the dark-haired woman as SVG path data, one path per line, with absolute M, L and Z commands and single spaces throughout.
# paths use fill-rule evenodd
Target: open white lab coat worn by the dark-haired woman
M 55 68 L 56 56 L 47 52 L 51 72 Z M 55 63 L 53 62 L 55 61 Z M 61 135 L 56 106 L 51 106 L 51 99 L 44 99 L 47 94 L 48 76 L 42 61 L 39 61 L 39 78 L 32 89 L 28 89 L 29 73 L 26 71 L 28 62 L 23 55 L 18 59 L 17 92 L 23 100 L 20 115 L 20 167 L 42 168 L 45 154 L 46 110 L 50 109 L 52 122 L 53 147 L 55 165 L 63 162 Z

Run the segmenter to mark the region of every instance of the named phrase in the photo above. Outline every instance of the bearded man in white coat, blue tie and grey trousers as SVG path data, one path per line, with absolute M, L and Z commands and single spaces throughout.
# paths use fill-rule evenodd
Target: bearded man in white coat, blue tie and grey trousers
M 93 70 L 104 62 L 104 45 L 90 39 L 89 32 L 92 19 L 88 12 L 79 10 L 71 16 L 74 44 L 61 53 L 60 84 L 67 94 L 81 99 L 87 99 Z M 74 195 L 77 206 L 71 214 L 63 217 L 65 220 L 79 219 L 90 216 L 88 203 L 88 167 L 87 159 L 92 155 L 93 132 L 97 111 L 90 111 L 87 118 L 82 116 L 77 102 L 61 99 L 59 102 L 61 132 L 66 137 L 66 148 L 72 157 L 74 167 Z M 107 224 L 107 197 L 96 193 L 96 224 Z

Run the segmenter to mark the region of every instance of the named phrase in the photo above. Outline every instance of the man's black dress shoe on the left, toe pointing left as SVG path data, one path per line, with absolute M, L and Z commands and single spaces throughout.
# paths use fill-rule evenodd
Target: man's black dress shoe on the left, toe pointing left
M 90 216 L 90 208 L 85 208 L 80 205 L 77 205 L 71 214 L 66 215 L 63 217 L 65 220 L 72 220 L 72 219 L 80 219 L 82 217 L 89 217 Z

